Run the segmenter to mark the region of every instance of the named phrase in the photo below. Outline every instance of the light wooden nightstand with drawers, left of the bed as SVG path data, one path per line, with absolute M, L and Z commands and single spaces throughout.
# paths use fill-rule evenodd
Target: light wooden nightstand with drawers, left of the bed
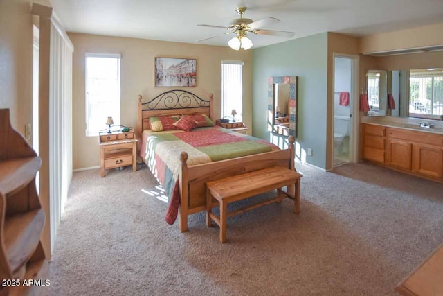
M 100 173 L 105 170 L 132 165 L 137 171 L 137 139 L 134 130 L 129 132 L 100 132 Z

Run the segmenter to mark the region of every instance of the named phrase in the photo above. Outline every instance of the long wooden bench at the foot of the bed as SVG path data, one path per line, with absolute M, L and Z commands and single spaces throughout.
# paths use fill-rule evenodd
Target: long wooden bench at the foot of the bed
M 206 225 L 212 226 L 211 218 L 220 227 L 220 242 L 226 243 L 226 218 L 244 213 L 271 202 L 281 202 L 284 198 L 294 200 L 294 212 L 300 213 L 300 178 L 296 171 L 282 166 L 273 166 L 258 171 L 251 171 L 242 175 L 226 177 L 220 180 L 206 182 Z M 287 192 L 282 190 L 287 186 Z M 227 212 L 226 206 L 230 202 L 251 198 L 254 195 L 278 189 L 277 197 L 264 202 L 258 202 L 249 207 Z M 213 198 L 220 204 L 220 216 L 212 212 Z

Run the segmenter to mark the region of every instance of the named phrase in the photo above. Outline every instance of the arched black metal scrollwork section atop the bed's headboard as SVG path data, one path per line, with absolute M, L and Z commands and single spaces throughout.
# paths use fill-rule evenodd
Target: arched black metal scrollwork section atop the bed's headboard
M 195 107 L 210 107 L 210 101 L 200 98 L 192 92 L 182 89 L 172 89 L 159 94 L 152 100 L 142 103 L 143 110 L 188 109 Z

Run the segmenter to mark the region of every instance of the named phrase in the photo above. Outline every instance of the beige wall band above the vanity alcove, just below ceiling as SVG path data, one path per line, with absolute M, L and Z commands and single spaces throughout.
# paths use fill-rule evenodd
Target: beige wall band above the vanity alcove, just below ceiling
M 443 44 L 443 23 L 362 37 L 360 53 L 413 49 Z

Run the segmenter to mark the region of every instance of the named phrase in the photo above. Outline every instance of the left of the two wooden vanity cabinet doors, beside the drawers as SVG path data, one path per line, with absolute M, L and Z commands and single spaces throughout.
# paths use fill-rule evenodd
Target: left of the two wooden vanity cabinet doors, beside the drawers
M 411 169 L 412 143 L 399 139 L 386 140 L 386 164 Z

